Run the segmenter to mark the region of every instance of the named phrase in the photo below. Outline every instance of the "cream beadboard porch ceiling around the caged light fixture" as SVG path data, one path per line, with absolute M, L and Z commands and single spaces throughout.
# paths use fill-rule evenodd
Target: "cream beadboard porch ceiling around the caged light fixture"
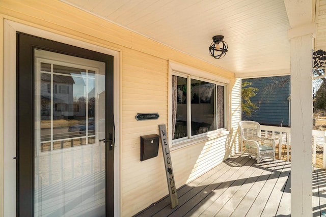
M 234 72 L 236 77 L 290 73 L 287 32 L 291 27 L 283 0 L 62 1 Z M 208 53 L 215 35 L 223 35 L 229 45 L 222 59 Z

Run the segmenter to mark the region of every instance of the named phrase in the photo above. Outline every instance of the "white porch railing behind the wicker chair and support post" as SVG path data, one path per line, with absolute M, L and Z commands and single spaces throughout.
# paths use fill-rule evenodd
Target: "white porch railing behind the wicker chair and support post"
M 266 138 L 272 138 L 275 139 L 276 144 L 279 144 L 279 152 L 276 153 L 279 155 L 279 159 L 282 159 L 282 145 L 285 145 L 286 147 L 286 161 L 290 160 L 290 133 L 291 128 L 285 128 L 285 127 L 275 127 L 275 126 L 265 126 L 261 125 L 261 136 Z M 317 146 L 317 139 L 321 140 L 321 145 L 323 148 L 325 148 L 325 137 L 326 137 L 326 131 L 312 131 L 313 135 L 313 164 L 316 164 L 316 146 Z M 242 147 L 241 147 L 242 150 Z M 284 159 L 284 157 L 283 157 Z M 323 157 L 322 157 L 322 168 L 326 168 L 326 151 L 323 149 Z

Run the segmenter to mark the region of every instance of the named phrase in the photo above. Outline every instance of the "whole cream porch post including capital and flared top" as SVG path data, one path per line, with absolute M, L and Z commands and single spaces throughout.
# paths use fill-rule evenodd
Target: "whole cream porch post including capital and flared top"
M 314 0 L 284 0 L 291 29 L 291 216 L 312 216 Z

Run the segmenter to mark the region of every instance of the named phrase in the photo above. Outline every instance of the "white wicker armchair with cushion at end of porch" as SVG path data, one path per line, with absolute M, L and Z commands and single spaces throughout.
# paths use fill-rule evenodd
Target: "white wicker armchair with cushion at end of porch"
M 275 140 L 260 137 L 260 125 L 256 121 L 242 120 L 239 122 L 241 139 L 247 152 L 257 157 L 259 164 L 263 158 L 275 160 Z M 242 145 L 242 144 L 241 144 Z

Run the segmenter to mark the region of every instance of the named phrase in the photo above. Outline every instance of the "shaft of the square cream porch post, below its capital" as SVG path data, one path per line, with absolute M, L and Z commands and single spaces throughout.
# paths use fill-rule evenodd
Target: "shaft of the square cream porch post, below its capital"
M 312 34 L 291 39 L 291 216 L 312 216 Z

